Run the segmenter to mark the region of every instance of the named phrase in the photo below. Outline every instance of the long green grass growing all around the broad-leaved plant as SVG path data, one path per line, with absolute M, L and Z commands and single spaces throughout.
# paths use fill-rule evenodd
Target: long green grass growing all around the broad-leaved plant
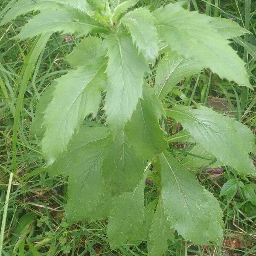
M 141 0 L 152 8 L 168 1 Z M 170 2 L 170 1 L 169 1 Z M 174 2 L 174 1 L 172 1 Z M 4 0 L 0 17 L 13 1 Z M 245 36 L 245 49 L 236 43 L 248 67 L 252 84 L 256 84 L 256 3 L 250 0 L 190 0 L 190 8 L 207 15 L 232 18 L 253 32 Z M 68 69 L 64 56 L 71 52 L 78 39 L 47 35 L 29 41 L 12 39 L 26 17 L 0 28 L 0 216 L 2 255 L 18 256 L 96 256 L 147 255 L 146 243 L 123 245 L 111 250 L 105 235 L 106 222 L 81 221 L 68 226 L 63 218 L 67 200 L 67 181 L 48 177 L 41 158 L 39 138 L 29 133 L 35 106 L 41 93 Z M 249 43 L 249 44 L 248 44 Z M 44 47 L 44 45 L 46 46 Z M 251 54 L 251 55 L 250 55 Z M 232 114 L 256 133 L 256 93 L 221 81 L 211 72 L 191 76 L 175 87 L 166 97 L 166 105 L 182 102 L 185 105 L 209 104 L 225 98 Z M 177 131 L 176 123 L 168 123 L 170 133 Z M 13 177 L 12 177 L 13 175 Z M 256 255 L 256 206 L 241 194 L 219 198 L 223 183 L 233 177 L 229 169 L 221 175 L 198 173 L 198 179 L 221 202 L 224 211 L 224 242 L 221 247 L 198 247 L 176 235 L 170 243 L 168 256 L 198 255 Z M 251 180 L 255 182 L 255 180 Z M 147 185 L 146 196 L 154 197 L 154 186 Z M 6 203 L 7 202 L 7 203 Z M 213 224 L 214 225 L 214 224 Z

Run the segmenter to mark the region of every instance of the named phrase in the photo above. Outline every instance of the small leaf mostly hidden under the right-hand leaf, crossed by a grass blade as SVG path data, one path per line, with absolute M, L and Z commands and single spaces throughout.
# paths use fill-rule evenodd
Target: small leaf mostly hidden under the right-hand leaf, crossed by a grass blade
M 186 157 L 183 157 L 180 163 L 183 164 L 184 167 L 189 169 L 198 169 L 201 167 L 209 167 L 209 168 L 217 168 L 224 166 L 221 161 L 216 160 L 214 156 L 209 154 L 205 148 L 202 147 L 202 145 L 197 144 L 195 145 L 191 150 L 189 150 L 189 153 L 193 155 L 186 155 Z M 208 160 L 207 160 L 208 159 Z M 214 163 L 212 161 L 216 160 Z M 210 164 L 212 163 L 212 164 Z

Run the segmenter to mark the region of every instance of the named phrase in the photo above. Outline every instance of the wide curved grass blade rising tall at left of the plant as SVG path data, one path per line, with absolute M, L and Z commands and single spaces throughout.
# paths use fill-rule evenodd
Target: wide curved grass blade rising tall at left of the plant
M 35 63 L 41 51 L 44 49 L 50 35 L 51 35 L 50 33 L 47 33 L 47 34 L 38 36 L 34 46 L 32 47 L 32 50 L 29 52 L 27 58 L 24 60 L 25 61 L 23 66 L 24 73 L 20 83 L 20 89 L 19 89 L 18 99 L 16 103 L 14 122 L 13 122 L 13 128 L 12 128 L 12 163 L 13 163 L 13 172 L 15 175 L 17 175 L 17 131 L 18 131 L 18 125 L 19 125 L 19 119 L 20 119 L 20 112 L 23 107 L 23 98 L 26 92 L 26 87 L 27 87 L 29 78 L 34 70 Z

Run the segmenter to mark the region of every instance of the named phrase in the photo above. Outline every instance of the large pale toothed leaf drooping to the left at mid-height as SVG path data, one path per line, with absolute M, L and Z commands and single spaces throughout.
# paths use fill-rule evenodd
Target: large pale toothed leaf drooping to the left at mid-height
M 85 116 L 96 115 L 105 86 L 105 63 L 80 67 L 56 79 L 53 100 L 44 112 L 42 151 L 51 164 L 64 151 Z

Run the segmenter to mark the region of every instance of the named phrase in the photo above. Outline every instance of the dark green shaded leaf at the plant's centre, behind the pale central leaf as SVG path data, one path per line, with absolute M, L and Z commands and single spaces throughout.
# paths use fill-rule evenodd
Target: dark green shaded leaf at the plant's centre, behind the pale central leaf
M 162 103 L 149 87 L 143 88 L 143 99 L 139 99 L 131 121 L 125 132 L 138 154 L 151 160 L 166 150 L 168 144 L 160 128 L 159 119 L 165 116 Z

